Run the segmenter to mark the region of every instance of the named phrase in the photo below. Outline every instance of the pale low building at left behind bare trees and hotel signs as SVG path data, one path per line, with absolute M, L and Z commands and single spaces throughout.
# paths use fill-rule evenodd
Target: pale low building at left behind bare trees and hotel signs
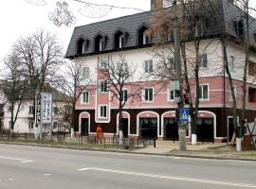
M 0 133 L 7 132 L 10 129 L 10 112 L 9 103 L 5 96 L 2 86 L 5 82 L 1 82 L 0 86 Z M 64 132 L 69 131 L 70 126 L 66 121 L 66 115 L 70 114 L 72 108 L 70 103 L 70 98 L 54 89 L 50 90 L 52 94 L 52 127 L 54 132 Z M 30 94 L 26 94 L 26 98 L 22 101 L 20 111 L 17 115 L 17 120 L 15 122 L 13 132 L 14 133 L 34 133 L 35 129 L 35 108 L 34 101 Z M 14 113 L 17 112 L 17 105 L 14 107 Z M 50 125 L 44 126 L 44 131 L 49 132 Z

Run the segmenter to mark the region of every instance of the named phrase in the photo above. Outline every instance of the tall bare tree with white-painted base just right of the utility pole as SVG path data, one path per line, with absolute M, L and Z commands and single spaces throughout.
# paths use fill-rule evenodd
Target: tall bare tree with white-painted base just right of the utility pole
M 167 5 L 172 5 L 173 1 Z M 161 3 L 161 1 L 159 1 Z M 161 69 L 158 69 L 158 76 L 169 76 L 165 77 L 167 80 L 174 80 L 174 59 L 166 62 L 168 56 L 174 57 L 174 14 L 172 9 L 177 9 L 179 17 L 179 38 L 181 46 L 181 55 L 183 60 L 183 79 L 185 81 L 186 88 L 183 89 L 186 93 L 190 94 L 190 114 L 191 114 L 191 126 L 192 134 L 197 134 L 197 115 L 199 110 L 199 97 L 200 97 L 200 68 L 204 67 L 207 63 L 207 57 L 204 57 L 204 52 L 214 40 L 208 40 L 207 44 L 202 45 L 201 43 L 206 39 L 207 35 L 210 35 L 210 27 L 206 26 L 207 19 L 214 20 L 214 17 L 218 15 L 217 2 L 212 0 L 179 0 L 177 1 L 177 7 L 171 6 L 167 9 L 157 9 L 153 15 L 153 33 L 155 33 L 155 48 L 169 49 L 169 52 L 160 53 L 158 58 L 162 61 L 159 64 Z M 188 46 L 192 47 L 188 47 Z M 167 55 L 166 55 L 167 54 Z M 168 55 L 169 54 L 169 55 Z M 207 66 L 207 65 L 206 65 Z M 166 75 L 166 73 L 169 73 Z M 194 81 L 190 78 L 194 78 Z M 195 88 L 194 97 L 192 97 L 192 89 Z

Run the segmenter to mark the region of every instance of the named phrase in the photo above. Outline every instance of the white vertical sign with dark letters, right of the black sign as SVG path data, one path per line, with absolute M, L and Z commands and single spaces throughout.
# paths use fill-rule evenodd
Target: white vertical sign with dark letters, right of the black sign
M 42 93 L 42 124 L 51 123 L 52 97 L 51 94 Z

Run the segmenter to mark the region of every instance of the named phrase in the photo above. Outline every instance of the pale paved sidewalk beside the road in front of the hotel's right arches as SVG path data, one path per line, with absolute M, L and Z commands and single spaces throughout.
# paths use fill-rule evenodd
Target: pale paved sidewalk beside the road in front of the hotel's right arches
M 147 146 L 133 150 L 133 152 L 178 157 L 256 161 L 256 150 L 238 152 L 235 146 L 227 146 L 223 143 L 198 143 L 196 146 L 188 143 L 187 151 L 179 151 L 178 141 L 156 141 L 155 147 Z

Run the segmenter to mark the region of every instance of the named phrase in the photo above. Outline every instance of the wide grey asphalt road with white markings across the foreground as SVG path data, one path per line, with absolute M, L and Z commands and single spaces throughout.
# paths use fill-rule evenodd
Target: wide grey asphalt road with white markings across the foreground
M 256 162 L 0 145 L 0 189 L 256 188 Z

